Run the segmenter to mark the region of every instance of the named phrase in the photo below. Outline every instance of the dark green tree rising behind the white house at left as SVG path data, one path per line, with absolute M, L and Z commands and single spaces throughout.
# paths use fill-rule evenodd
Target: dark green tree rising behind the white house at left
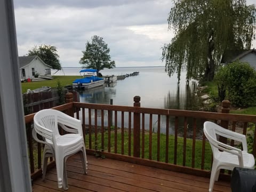
M 53 69 L 60 70 L 60 60 L 57 54 L 57 48 L 51 45 L 41 45 L 39 47 L 35 46 L 31 50 L 28 50 L 27 55 L 37 55 L 42 59 L 47 65 L 50 65 Z

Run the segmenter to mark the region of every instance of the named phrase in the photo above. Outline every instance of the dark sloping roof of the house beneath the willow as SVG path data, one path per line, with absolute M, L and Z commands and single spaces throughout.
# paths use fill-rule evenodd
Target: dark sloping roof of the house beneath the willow
M 255 53 L 256 54 L 256 50 L 252 49 L 252 50 L 231 50 L 231 51 L 226 51 L 223 54 L 221 62 L 222 63 L 233 62 L 233 61 L 236 61 L 236 60 L 239 60 L 239 59 L 245 57 L 245 55 L 247 55 L 249 53 Z

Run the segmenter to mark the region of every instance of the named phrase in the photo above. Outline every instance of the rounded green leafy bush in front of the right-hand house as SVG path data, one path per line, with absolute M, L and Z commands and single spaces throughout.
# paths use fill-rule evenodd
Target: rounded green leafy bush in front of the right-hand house
M 215 81 L 220 100 L 229 99 L 239 107 L 256 105 L 256 73 L 248 63 L 229 63 L 219 69 Z

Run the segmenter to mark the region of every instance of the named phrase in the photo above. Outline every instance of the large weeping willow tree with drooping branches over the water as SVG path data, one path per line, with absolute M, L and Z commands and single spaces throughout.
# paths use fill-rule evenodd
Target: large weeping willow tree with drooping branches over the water
M 171 43 L 163 47 L 162 61 L 169 76 L 187 70 L 187 79 L 212 81 L 226 51 L 251 48 L 255 39 L 255 5 L 245 0 L 173 0 L 168 28 Z

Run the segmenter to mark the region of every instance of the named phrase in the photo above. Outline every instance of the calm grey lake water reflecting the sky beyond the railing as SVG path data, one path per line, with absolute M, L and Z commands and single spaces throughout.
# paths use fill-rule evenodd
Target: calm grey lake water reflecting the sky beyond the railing
M 79 75 L 81 68 L 63 68 L 55 75 Z M 195 97 L 196 82 L 186 83 L 186 73 L 181 74 L 178 84 L 177 75 L 169 77 L 164 67 L 120 67 L 104 69 L 100 73 L 104 75 L 124 75 L 139 71 L 139 75 L 126 77 L 110 86 L 81 91 L 80 102 L 109 104 L 113 99 L 114 105 L 133 106 L 133 97 L 139 95 L 141 107 L 162 109 L 193 110 L 197 106 Z M 146 116 L 146 122 L 149 117 Z M 119 118 L 118 118 L 119 119 Z M 127 121 L 125 121 L 127 122 Z M 157 126 L 157 116 L 153 116 L 153 128 Z M 170 133 L 173 133 L 174 119 L 170 119 Z M 107 125 L 107 124 L 106 124 Z M 165 117 L 161 118 L 161 132 L 165 132 Z M 188 127 L 190 127 L 189 124 Z M 121 126 L 121 122 L 118 122 Z M 127 126 L 127 125 L 125 125 Z M 146 123 L 147 126 L 147 123 Z M 180 125 L 182 129 L 182 124 Z M 156 131 L 156 130 L 155 130 Z

